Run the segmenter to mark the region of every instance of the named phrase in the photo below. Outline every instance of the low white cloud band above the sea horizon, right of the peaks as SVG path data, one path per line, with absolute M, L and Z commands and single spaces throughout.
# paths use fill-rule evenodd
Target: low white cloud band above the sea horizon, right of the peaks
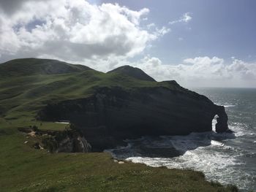
M 177 80 L 185 87 L 256 87 L 256 63 L 235 59 L 230 63 L 223 58 L 197 57 L 184 59 L 182 64 L 163 64 L 149 55 L 137 62 L 121 61 L 143 69 L 156 80 Z

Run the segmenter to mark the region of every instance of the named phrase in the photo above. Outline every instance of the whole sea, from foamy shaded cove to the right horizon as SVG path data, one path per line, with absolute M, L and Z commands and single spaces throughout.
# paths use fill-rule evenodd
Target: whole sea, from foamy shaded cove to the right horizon
M 143 137 L 108 150 L 116 158 L 148 166 L 194 169 L 207 180 L 256 191 L 256 89 L 194 88 L 224 105 L 233 134 L 215 131 L 188 136 Z M 213 120 L 213 126 L 216 120 Z

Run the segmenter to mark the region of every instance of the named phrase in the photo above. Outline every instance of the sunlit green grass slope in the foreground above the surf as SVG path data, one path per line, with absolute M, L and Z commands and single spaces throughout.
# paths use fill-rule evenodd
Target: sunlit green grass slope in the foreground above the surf
M 233 191 L 201 172 L 117 164 L 108 153 L 34 150 L 16 123 L 0 122 L 0 191 Z M 24 120 L 23 120 L 24 122 Z M 29 141 L 24 144 L 25 141 Z

